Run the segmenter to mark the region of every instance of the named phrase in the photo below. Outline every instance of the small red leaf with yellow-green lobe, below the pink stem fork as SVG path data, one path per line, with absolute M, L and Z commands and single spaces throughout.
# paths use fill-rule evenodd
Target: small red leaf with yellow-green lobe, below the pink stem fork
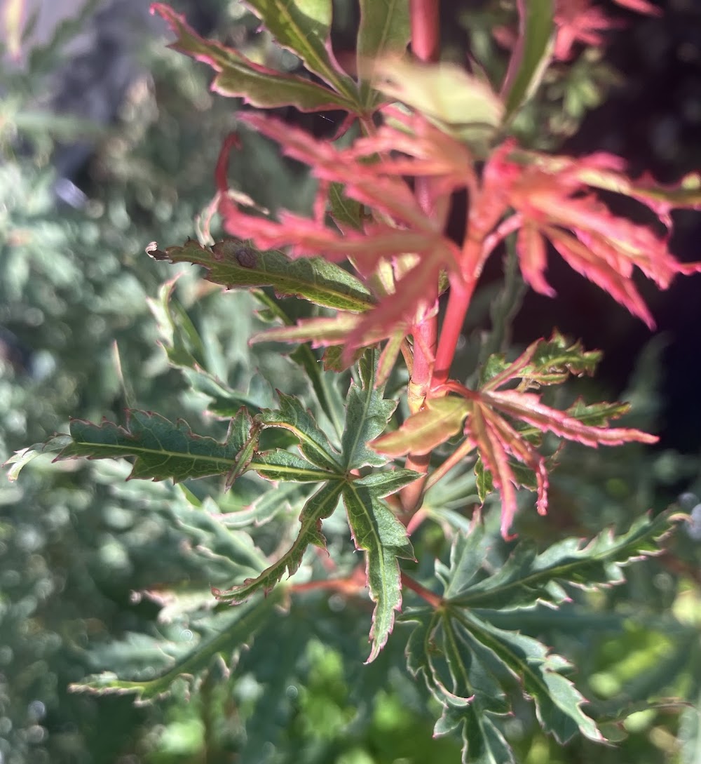
M 501 496 L 502 535 L 509 538 L 517 510 L 516 488 L 524 485 L 515 465 L 524 465 L 535 476 L 538 513 L 544 514 L 548 510 L 546 460 L 524 426 L 528 426 L 531 433 L 552 432 L 592 448 L 628 442 L 657 442 L 656 436 L 637 429 L 609 427 L 609 419 L 625 413 L 625 405 L 599 403 L 583 406 L 578 402 L 569 410 L 560 411 L 542 403 L 539 393 L 527 391 L 534 384 L 563 381 L 567 370 L 586 373 L 592 362 L 588 358 L 591 354 L 580 351 L 578 345 L 568 348 L 560 360 L 557 354 L 538 360 L 538 352 L 544 345 L 552 345 L 561 339 L 555 336 L 550 343 L 544 340 L 534 342 L 515 361 L 486 381 L 480 390 L 470 390 L 449 380 L 440 390 L 434 390 L 443 397 L 428 400 L 424 408 L 409 416 L 398 430 L 380 435 L 371 445 L 376 451 L 393 457 L 410 452 L 422 454 L 462 432 L 464 441 L 447 458 L 440 473 L 444 474 L 476 451 L 491 474 L 493 487 Z M 581 365 L 576 361 L 577 356 Z M 519 384 L 513 389 L 515 381 Z M 509 389 L 504 389 L 507 386 Z M 457 393 L 457 397 L 446 396 L 446 393 Z

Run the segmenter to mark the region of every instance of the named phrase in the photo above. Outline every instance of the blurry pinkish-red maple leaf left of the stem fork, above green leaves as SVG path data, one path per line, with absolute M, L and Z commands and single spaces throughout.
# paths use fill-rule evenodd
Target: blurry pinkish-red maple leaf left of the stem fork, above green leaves
M 354 322 L 344 342 L 348 358 L 368 344 L 368 337 L 373 342 L 391 337 L 396 345 L 397 329 L 411 332 L 434 312 L 435 296 L 428 304 L 427 284 L 437 284 L 441 270 L 454 277 L 460 274 L 460 248 L 444 236 L 443 228 L 451 193 L 476 183 L 470 153 L 418 115 L 394 116 L 411 134 L 383 125 L 375 134 L 339 149 L 274 118 L 241 115 L 242 122 L 278 141 L 286 155 L 310 165 L 320 181 L 313 218 L 283 210 L 271 220 L 241 209 L 226 178 L 228 152 L 237 145 L 236 138 L 225 143 L 218 163 L 219 211 L 229 233 L 250 239 L 261 249 L 289 248 L 290 257 L 321 255 L 330 261 L 351 261 L 373 290 L 378 305 Z M 405 176 L 430 180 L 428 212 Z M 328 225 L 331 183 L 341 183 L 346 196 L 372 210 L 360 229 Z M 390 283 L 374 278 L 383 263 L 390 265 Z

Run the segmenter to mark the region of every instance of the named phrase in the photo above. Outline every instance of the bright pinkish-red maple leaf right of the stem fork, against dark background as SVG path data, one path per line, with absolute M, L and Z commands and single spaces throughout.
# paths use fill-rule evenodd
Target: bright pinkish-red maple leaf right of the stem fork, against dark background
M 534 152 L 519 154 L 512 141 L 502 144 L 486 163 L 480 196 L 473 206 L 473 228 L 485 236 L 502 216 L 506 231 L 518 230 L 516 252 L 526 282 L 537 292 L 553 295 L 544 277 L 546 241 L 570 267 L 601 286 L 651 328 L 654 320 L 632 279 L 637 267 L 667 289 L 676 274 L 701 270 L 701 264 L 681 264 L 668 248 L 668 233 L 657 234 L 614 215 L 592 186 L 632 196 L 669 222 L 672 206 L 692 206 L 698 199 L 674 191 L 654 196 L 632 185 L 622 172 L 625 164 L 611 154 L 589 157 L 551 157 Z

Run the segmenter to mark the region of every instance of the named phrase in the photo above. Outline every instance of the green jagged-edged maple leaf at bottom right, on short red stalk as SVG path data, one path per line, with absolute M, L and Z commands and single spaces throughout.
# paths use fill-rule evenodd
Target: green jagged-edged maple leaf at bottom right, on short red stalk
M 418 622 L 407 647 L 409 669 L 422 675 L 443 707 L 435 733 L 461 727 L 464 762 L 513 761 L 495 720 L 512 711 L 519 691 L 534 701 L 541 726 L 560 743 L 577 732 L 602 740 L 581 709 L 584 698 L 564 675 L 570 664 L 538 640 L 496 625 L 499 613 L 541 602 L 557 607 L 568 599 L 565 585 L 622 582 L 623 566 L 662 551 L 661 539 L 674 520 L 669 513 L 645 516 L 619 536 L 605 531 L 586 545 L 566 539 L 541 554 L 523 542 L 491 575 L 483 568 L 483 528 L 457 533 L 450 565 L 437 568 L 444 584 L 441 606 L 404 620 Z

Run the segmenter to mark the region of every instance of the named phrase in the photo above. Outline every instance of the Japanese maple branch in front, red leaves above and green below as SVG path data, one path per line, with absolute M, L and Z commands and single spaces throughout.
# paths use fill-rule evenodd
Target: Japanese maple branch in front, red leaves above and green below
M 573 46 L 602 43 L 609 20 L 586 2 L 515 3 L 500 81 L 473 59 L 441 62 L 438 0 L 360 0 L 355 56 L 344 66 L 331 48 L 331 0 L 247 5 L 275 43 L 299 57 L 296 73 L 202 39 L 185 18 L 153 5 L 176 34 L 172 47 L 211 66 L 212 90 L 244 105 L 212 168 L 216 194 L 200 241 L 154 242 L 147 251 L 199 264 L 228 289 L 250 290 L 269 324 L 250 342 L 271 343 L 277 353 L 296 346 L 289 352 L 309 394 L 302 400 L 273 380 L 283 388 L 275 404 L 241 406 L 221 442 L 183 421 L 133 410 L 123 426 L 74 420 L 69 435 L 14 458 L 16 474 L 37 452 L 59 451 L 57 460 L 126 457 L 134 460 L 131 478 L 221 475 L 234 494 L 238 481 L 254 478 L 259 494 L 240 512 L 211 512 L 218 532 L 245 547 L 240 577 L 210 581 L 206 598 L 181 605 L 192 610 L 191 623 L 195 613 L 228 620 L 203 629 L 199 643 L 156 678 L 95 675 L 76 688 L 152 700 L 177 680 L 202 677 L 218 656 L 231 662 L 305 597 L 342 597 L 367 622 L 367 663 L 393 649 L 392 660 L 403 660 L 442 709 L 435 734 L 462 735 L 465 762 L 513 760 L 502 722 L 519 696 L 535 704 L 538 723 L 558 741 L 578 733 L 604 740 L 567 676 L 567 660 L 502 617 L 557 608 L 574 596 L 572 587 L 622 581 L 622 566 L 661 551 L 674 516 L 645 515 L 617 533 L 602 529 L 593 539 L 541 548 L 519 537 L 515 521 L 548 513 L 549 474 L 565 441 L 609 448 L 656 438 L 612 425 L 623 403 L 555 405 L 564 399 L 551 395 L 552 386 L 593 374 L 599 361 L 598 351 L 556 330 L 516 352 L 504 337 L 484 342 L 469 374 L 455 371 L 454 361 L 489 258 L 504 258 L 512 277 L 520 270 L 525 285 L 556 297 L 548 257 L 562 257 L 576 278 L 652 327 L 636 270 L 661 289 L 701 270 L 668 248 L 671 210 L 701 206 L 699 177 L 661 187 L 633 180 L 611 154 L 546 154 L 518 140 L 513 126 L 551 62 L 563 66 Z M 619 5 L 657 13 L 640 0 Z M 286 106 L 334 112 L 335 134 L 315 138 L 266 112 Z M 309 167 L 317 183 L 309 215 L 271 215 L 233 187 L 229 160 L 242 131 L 266 136 Z M 651 225 L 612 212 L 604 200 L 612 195 L 647 208 Z M 449 216 L 460 221 L 459 235 L 454 225 L 447 234 Z M 220 241 L 209 232 L 214 222 L 226 234 Z M 289 309 L 290 298 L 298 309 Z M 287 484 L 294 490 L 286 493 Z M 458 491 L 458 506 L 460 485 L 467 489 Z M 343 512 L 340 532 L 329 519 Z M 254 545 L 270 516 L 278 543 Z M 337 557 L 327 556 L 328 533 Z M 360 557 L 346 553 L 349 536 Z M 234 542 L 231 549 L 235 557 Z

